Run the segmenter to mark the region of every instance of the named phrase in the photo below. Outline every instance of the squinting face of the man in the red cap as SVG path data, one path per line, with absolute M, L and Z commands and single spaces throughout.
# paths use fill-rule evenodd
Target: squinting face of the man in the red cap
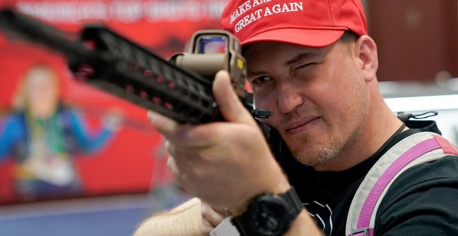
M 273 111 L 262 121 L 278 130 L 305 165 L 325 167 L 359 145 L 370 98 L 350 47 L 258 42 L 246 50 L 255 106 Z

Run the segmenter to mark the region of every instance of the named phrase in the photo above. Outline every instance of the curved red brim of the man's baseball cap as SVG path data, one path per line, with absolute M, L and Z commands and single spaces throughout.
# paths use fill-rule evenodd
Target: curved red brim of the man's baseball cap
M 345 31 L 343 29 L 279 28 L 249 37 L 248 40 L 241 42 L 241 45 L 269 41 L 298 44 L 305 47 L 326 47 L 339 40 Z

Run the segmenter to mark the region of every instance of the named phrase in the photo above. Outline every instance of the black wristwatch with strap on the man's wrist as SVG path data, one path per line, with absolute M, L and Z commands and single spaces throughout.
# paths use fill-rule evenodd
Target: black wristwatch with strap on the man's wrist
M 232 218 L 241 235 L 282 235 L 303 209 L 294 187 L 282 194 L 262 194 L 248 205 L 246 211 Z

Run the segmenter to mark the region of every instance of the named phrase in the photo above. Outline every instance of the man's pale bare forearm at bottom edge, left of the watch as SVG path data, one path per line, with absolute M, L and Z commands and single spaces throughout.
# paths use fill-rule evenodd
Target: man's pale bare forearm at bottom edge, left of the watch
M 146 235 L 203 235 L 201 200 L 191 199 L 169 212 L 161 212 L 146 219 L 134 236 Z

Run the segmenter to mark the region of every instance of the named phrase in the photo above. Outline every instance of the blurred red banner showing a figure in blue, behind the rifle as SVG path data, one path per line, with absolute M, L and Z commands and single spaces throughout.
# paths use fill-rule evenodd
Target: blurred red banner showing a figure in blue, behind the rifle
M 103 23 L 169 58 L 186 50 L 195 31 L 220 28 L 225 3 L 7 0 L 0 6 L 15 8 L 69 33 L 78 33 L 83 24 Z M 0 57 L 0 203 L 146 192 L 170 180 L 162 138 L 151 128 L 146 110 L 78 83 L 62 56 L 36 44 L 10 42 L 0 35 Z M 51 83 L 38 75 L 56 77 L 51 81 L 57 81 L 59 108 L 45 108 L 47 102 L 37 102 L 50 90 L 44 83 Z M 35 111 L 46 114 L 46 109 L 56 113 L 33 115 Z M 110 122 L 120 117 L 119 129 L 110 128 Z M 62 133 L 74 137 L 56 138 Z M 90 139 L 83 145 L 84 135 Z M 44 147 L 40 148 L 40 142 Z M 94 148 L 87 148 L 91 145 Z M 40 152 L 42 155 L 37 154 Z M 72 185 L 66 185 L 70 182 Z

